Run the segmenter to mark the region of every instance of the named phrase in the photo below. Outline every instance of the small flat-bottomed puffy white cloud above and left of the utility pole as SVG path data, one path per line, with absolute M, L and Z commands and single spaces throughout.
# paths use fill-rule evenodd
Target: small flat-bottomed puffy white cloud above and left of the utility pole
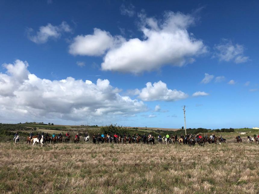
M 153 85 L 151 82 L 146 83 L 146 87 L 141 89 L 138 96 L 143 101 L 175 101 L 187 97 L 188 95 L 182 91 L 168 89 L 162 81 L 154 82 Z

